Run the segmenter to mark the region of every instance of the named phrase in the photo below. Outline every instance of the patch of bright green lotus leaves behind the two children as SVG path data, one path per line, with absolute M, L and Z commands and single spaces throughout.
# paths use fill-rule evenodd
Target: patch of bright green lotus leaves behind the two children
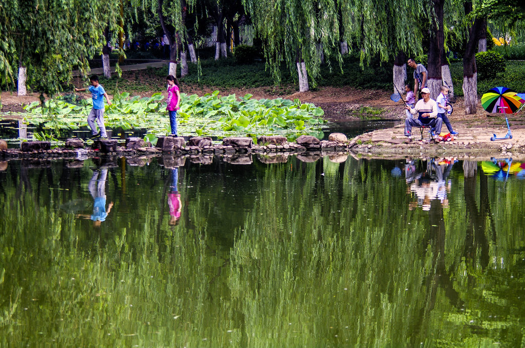
M 169 119 L 165 116 L 163 96 L 130 97 L 116 94 L 112 105 L 106 105 L 106 125 L 122 129 L 146 128 L 160 135 L 166 132 Z M 92 107 L 90 100 L 81 105 L 69 104 L 63 99 L 37 102 L 25 106 L 28 122 L 44 124 L 48 129 L 77 129 L 85 125 L 85 115 Z M 198 135 L 272 135 L 317 132 L 325 122 L 321 108 L 298 100 L 252 99 L 251 94 L 237 99 L 235 94 L 220 96 L 218 91 L 204 96 L 181 93 L 181 107 L 177 112 L 181 134 Z M 58 117 L 57 117 L 58 116 Z

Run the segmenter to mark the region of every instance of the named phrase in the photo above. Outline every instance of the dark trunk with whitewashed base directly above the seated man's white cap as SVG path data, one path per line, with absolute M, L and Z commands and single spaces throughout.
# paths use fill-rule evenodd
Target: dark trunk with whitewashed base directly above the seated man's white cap
M 441 64 L 442 59 L 444 59 L 445 45 L 445 34 L 443 31 L 444 2 L 444 0 L 432 0 L 435 16 L 432 24 L 430 24 L 430 43 L 428 47 L 428 89 L 432 99 L 436 99 L 442 86 Z

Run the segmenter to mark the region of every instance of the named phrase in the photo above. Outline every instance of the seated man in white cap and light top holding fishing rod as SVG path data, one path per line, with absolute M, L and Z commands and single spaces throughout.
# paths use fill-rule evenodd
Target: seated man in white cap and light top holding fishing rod
M 441 133 L 441 126 L 443 125 L 443 119 L 437 117 L 437 104 L 433 99 L 430 99 L 430 90 L 424 88 L 421 91 L 423 99 L 419 100 L 414 108 L 410 106 L 406 107 L 412 115 L 418 114 L 417 119 L 413 117 L 407 117 L 405 119 L 405 136 L 406 144 L 412 143 L 412 127 L 413 126 L 429 126 L 435 128 L 436 134 Z M 439 143 L 439 139 L 434 138 L 434 143 Z

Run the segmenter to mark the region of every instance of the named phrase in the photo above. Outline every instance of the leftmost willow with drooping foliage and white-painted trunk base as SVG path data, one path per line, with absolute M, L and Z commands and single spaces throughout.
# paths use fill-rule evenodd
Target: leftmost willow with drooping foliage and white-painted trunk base
M 5 0 L 0 8 L 8 14 L 0 15 L 4 80 L 13 82 L 17 67 L 18 95 L 27 93 L 28 76 L 31 88 L 53 95 L 71 80 L 73 68 L 87 74 L 87 59 L 101 52 L 103 29 L 119 1 Z

